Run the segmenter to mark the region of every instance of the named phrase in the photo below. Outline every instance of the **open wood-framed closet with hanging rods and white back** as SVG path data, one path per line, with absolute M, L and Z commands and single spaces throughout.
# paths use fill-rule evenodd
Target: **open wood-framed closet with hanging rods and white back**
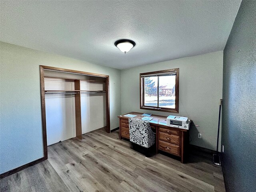
M 40 66 L 44 149 L 105 128 L 110 132 L 109 76 Z M 46 144 L 47 142 L 47 144 Z

